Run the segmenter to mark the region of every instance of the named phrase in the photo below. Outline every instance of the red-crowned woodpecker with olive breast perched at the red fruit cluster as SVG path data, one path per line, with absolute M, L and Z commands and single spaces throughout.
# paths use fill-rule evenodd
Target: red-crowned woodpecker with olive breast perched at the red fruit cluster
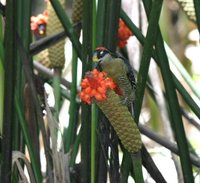
M 114 80 L 122 92 L 122 103 L 130 108 L 135 101 L 136 82 L 129 62 L 104 47 L 95 49 L 93 62 L 97 63 L 98 70 L 106 72 Z M 133 108 L 130 109 L 133 112 Z

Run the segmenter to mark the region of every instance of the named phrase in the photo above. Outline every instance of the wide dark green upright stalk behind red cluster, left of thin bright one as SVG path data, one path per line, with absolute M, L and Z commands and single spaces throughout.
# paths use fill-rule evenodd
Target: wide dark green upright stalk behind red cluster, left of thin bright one
M 82 75 L 92 68 L 92 9 L 90 0 L 83 0 Z M 91 107 L 81 105 L 81 179 L 91 181 Z

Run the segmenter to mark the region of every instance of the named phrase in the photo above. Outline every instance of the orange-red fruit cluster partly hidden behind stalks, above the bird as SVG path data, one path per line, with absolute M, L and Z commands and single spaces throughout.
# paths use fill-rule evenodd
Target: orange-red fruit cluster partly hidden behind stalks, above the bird
M 132 32 L 126 26 L 122 19 L 119 20 L 119 29 L 118 29 L 118 46 L 123 48 L 127 44 L 127 40 L 132 36 Z

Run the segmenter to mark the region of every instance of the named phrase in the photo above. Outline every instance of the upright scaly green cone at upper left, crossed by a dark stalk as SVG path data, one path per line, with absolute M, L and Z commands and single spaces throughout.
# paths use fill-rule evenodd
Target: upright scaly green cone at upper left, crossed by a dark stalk
M 65 0 L 60 0 L 60 3 L 63 7 L 65 7 Z M 60 23 L 50 2 L 48 2 L 47 11 L 48 11 L 47 35 L 49 36 L 63 31 L 62 24 Z M 65 45 L 65 40 L 61 40 L 60 42 L 58 42 L 57 44 L 48 49 L 49 60 L 51 62 L 52 68 L 64 67 L 65 64 L 64 45 Z

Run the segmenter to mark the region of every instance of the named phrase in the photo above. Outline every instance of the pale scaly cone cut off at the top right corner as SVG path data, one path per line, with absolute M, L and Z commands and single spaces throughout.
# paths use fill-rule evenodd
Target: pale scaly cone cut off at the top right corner
M 193 0 L 177 0 L 181 7 L 183 8 L 183 11 L 186 13 L 188 18 L 192 21 L 196 21 L 196 14 L 194 9 L 194 3 Z

